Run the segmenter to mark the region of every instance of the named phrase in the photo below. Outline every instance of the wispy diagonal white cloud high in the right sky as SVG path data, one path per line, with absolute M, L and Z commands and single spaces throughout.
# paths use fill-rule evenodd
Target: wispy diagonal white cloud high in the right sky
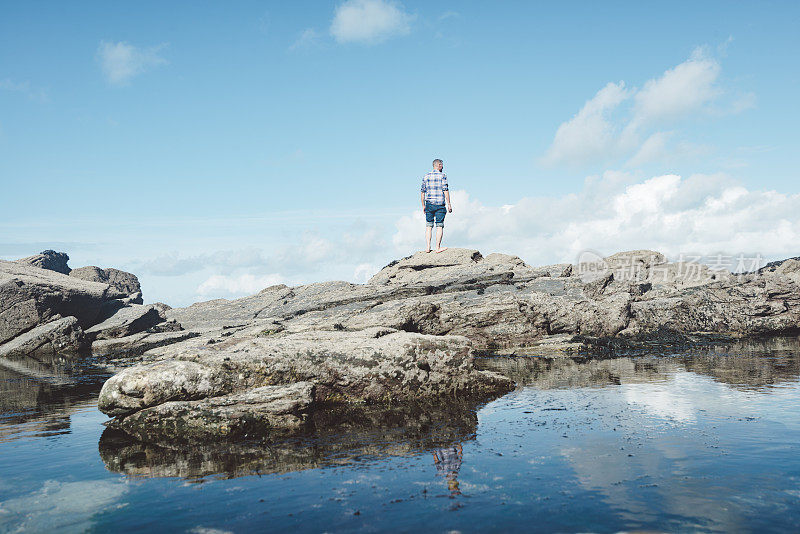
M 753 95 L 744 95 L 720 107 L 721 71 L 708 50 L 698 48 L 641 88 L 627 88 L 623 81 L 607 84 L 558 127 L 542 162 L 638 166 L 694 154 L 691 143 L 664 128 L 689 116 L 738 113 L 754 105 Z

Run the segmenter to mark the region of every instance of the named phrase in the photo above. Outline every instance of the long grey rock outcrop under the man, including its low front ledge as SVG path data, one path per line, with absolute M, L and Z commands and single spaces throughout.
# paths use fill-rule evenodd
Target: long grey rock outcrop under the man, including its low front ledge
M 392 262 L 367 284 L 277 285 L 166 309 L 194 337 L 144 351 L 144 363 L 109 380 L 116 394 L 104 393 L 101 409 L 126 419 L 180 401 L 185 418 L 195 406 L 187 403 L 309 382 L 318 416 L 332 405 L 512 387 L 475 368 L 482 351 L 605 354 L 654 340 L 800 331 L 800 261 L 734 275 L 647 250 L 590 260 L 536 268 L 451 249 Z M 128 430 L 146 436 L 139 426 Z

